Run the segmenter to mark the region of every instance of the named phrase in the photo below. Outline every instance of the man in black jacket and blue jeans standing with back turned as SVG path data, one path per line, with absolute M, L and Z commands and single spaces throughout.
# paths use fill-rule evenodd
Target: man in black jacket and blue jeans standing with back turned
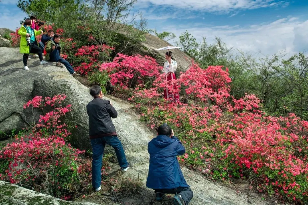
M 94 85 L 90 88 L 93 100 L 87 105 L 89 116 L 89 135 L 91 139 L 92 159 L 92 187 L 95 191 L 101 190 L 101 169 L 105 145 L 110 145 L 115 150 L 116 157 L 122 172 L 126 172 L 129 164 L 126 160 L 122 143 L 117 137 L 115 126 L 111 121 L 118 116 L 109 100 L 103 100 L 101 87 Z

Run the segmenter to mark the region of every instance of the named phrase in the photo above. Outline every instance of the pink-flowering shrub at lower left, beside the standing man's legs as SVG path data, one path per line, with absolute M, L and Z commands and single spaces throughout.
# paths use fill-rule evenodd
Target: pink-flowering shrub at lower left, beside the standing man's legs
M 82 157 L 83 150 L 67 144 L 70 132 L 61 122 L 71 105 L 64 105 L 66 96 L 35 96 L 24 109 L 42 109 L 39 123 L 27 129 L 24 136 L 0 150 L 0 165 L 6 169 L 0 179 L 32 187 L 35 191 L 63 199 L 85 192 L 91 182 L 91 161 Z

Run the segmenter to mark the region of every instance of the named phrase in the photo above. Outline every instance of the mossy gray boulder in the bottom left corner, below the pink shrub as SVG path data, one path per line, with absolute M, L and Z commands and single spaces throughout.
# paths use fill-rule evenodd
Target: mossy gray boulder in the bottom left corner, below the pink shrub
M 0 181 L 0 205 L 97 205 L 64 201 L 15 184 Z

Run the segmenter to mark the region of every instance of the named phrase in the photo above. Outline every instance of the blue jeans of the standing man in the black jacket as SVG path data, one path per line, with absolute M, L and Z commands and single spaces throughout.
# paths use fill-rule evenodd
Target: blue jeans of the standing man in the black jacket
M 120 167 L 126 168 L 128 166 L 122 143 L 116 135 L 91 139 L 92 152 L 93 152 L 92 187 L 94 189 L 97 189 L 101 184 L 102 159 L 106 144 L 110 145 L 115 150 L 115 154 L 118 159 Z

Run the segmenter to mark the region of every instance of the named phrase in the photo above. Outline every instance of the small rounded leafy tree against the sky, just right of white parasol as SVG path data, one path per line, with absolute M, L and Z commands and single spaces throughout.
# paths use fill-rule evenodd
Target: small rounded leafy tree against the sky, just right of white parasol
M 181 50 L 190 55 L 196 52 L 198 45 L 199 44 L 197 43 L 196 38 L 193 37 L 193 35 L 190 34 L 187 30 L 182 33 L 179 37 L 179 40 L 176 41 L 176 46 L 181 46 Z

